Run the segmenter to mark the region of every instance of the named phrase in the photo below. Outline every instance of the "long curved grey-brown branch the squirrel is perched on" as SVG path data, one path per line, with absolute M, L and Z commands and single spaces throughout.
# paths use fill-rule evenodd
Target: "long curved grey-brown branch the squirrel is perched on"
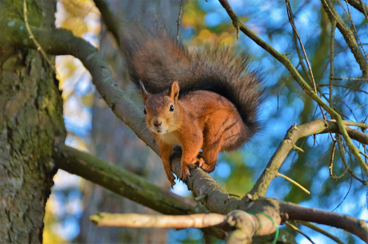
M 23 23 L 13 20 L 1 21 L 0 28 L 2 30 L 0 33 L 0 44 L 22 46 L 33 49 L 36 48 L 34 43 L 28 39 L 28 34 Z M 136 122 L 143 118 L 141 111 L 138 110 L 137 106 L 130 100 L 124 91 L 122 91 L 116 85 L 106 62 L 98 50 L 93 48 L 84 40 L 76 38 L 69 31 L 60 29 L 31 29 L 35 35 L 35 38 L 47 53 L 52 55 L 73 55 L 79 58 L 91 73 L 93 77 L 93 83 L 96 85 L 100 95 L 103 96 L 107 104 L 109 104 L 110 108 L 112 108 L 113 112 L 118 116 L 118 118 L 122 119 L 128 126 L 130 126 L 139 136 L 139 138 L 147 143 L 147 145 L 156 151 L 156 153 L 158 152 L 157 145 L 155 144 L 152 136 L 149 133 L 146 133 L 144 130 L 139 130 L 137 126 Z M 311 90 L 311 92 L 313 91 Z M 81 164 L 81 167 L 83 167 L 83 164 Z M 171 168 L 175 174 L 180 175 L 180 153 L 173 154 Z M 338 218 L 333 219 L 333 222 L 319 220 L 318 217 L 313 216 L 313 211 L 316 211 L 315 209 L 308 210 L 307 208 L 303 208 L 298 205 L 296 205 L 298 211 L 292 211 L 294 205 L 287 205 L 289 206 L 288 210 L 290 210 L 290 213 L 285 212 L 284 210 L 280 211 L 280 206 L 288 203 L 282 203 L 275 199 L 264 198 L 250 203 L 243 202 L 239 199 L 231 198 L 229 194 L 203 170 L 199 168 L 194 169 L 191 171 L 191 174 L 192 176 L 188 179 L 187 183 L 188 188 L 191 189 L 197 196 L 203 194 L 206 195 L 206 198 L 202 199 L 201 201 L 211 212 L 226 214 L 230 210 L 234 209 L 240 209 L 244 211 L 258 210 L 270 216 L 276 222 L 276 224 L 280 224 L 282 219 L 287 220 L 288 218 L 297 219 L 296 217 L 303 217 L 300 220 L 313 221 L 316 223 L 323 222 L 330 226 L 336 226 L 339 228 L 341 228 L 340 226 L 346 227 L 341 223 L 339 224 L 339 222 L 343 222 L 346 218 L 349 220 L 355 220 L 356 222 L 361 221 L 344 215 L 339 215 Z M 141 203 L 144 204 L 144 202 Z M 302 213 L 307 210 L 308 215 L 303 216 Z M 324 212 L 320 210 L 318 211 L 318 213 Z M 329 212 L 324 213 L 325 215 L 331 214 Z M 263 215 L 257 216 L 259 219 L 261 219 L 263 225 L 270 226 L 269 223 L 271 222 L 267 217 Z M 361 234 L 366 230 L 365 227 L 366 226 L 362 225 L 355 225 L 354 228 L 347 226 L 346 230 L 356 234 L 358 237 L 362 238 L 362 240 L 365 240 L 365 235 L 362 236 Z M 275 229 L 276 228 L 274 227 L 271 230 L 262 229 L 259 231 L 259 234 L 262 234 L 261 231 L 265 231 L 265 233 L 271 233 L 272 231 L 275 231 Z

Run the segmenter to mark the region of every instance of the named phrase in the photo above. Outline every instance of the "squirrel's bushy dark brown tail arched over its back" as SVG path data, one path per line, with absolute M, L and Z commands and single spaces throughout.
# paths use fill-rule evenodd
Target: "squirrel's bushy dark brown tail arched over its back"
M 248 128 L 248 138 L 259 130 L 263 79 L 257 69 L 251 69 L 247 52 L 224 45 L 188 50 L 162 29 L 123 31 L 121 47 L 135 84 L 139 86 L 141 79 L 147 91 L 161 93 L 177 80 L 180 95 L 194 90 L 213 91 L 236 106 Z

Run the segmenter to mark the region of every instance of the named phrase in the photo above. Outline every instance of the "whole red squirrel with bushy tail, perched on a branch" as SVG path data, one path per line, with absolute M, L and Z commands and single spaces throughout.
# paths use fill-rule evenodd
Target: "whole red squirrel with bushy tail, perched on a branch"
M 220 151 L 238 149 L 260 129 L 263 79 L 250 70 L 247 52 L 218 44 L 189 51 L 157 29 L 130 29 L 122 36 L 128 72 L 140 86 L 145 123 L 171 188 L 174 145 L 183 150 L 180 179 L 187 181 L 189 168 L 212 172 Z

